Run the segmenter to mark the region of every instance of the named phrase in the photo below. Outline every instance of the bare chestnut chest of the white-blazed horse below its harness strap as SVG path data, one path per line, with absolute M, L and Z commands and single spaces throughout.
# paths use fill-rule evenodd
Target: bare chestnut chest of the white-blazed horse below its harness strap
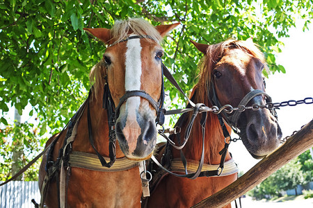
M 70 207 L 140 207 L 138 167 L 113 173 L 72 168 L 67 193 Z

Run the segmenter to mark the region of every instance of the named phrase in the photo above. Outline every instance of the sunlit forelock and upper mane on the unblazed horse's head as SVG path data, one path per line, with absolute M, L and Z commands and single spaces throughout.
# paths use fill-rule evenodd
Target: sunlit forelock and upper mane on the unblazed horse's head
M 198 83 L 194 89 L 198 89 L 199 94 L 202 95 L 201 103 L 209 105 L 208 103 L 208 90 L 211 83 L 211 72 L 215 68 L 216 64 L 223 57 L 225 50 L 229 48 L 242 49 L 255 58 L 259 58 L 264 64 L 264 70 L 268 71 L 266 60 L 263 53 L 259 50 L 258 46 L 253 42 L 241 41 L 241 40 L 226 40 L 218 44 L 210 45 L 207 49 L 207 55 L 204 56 L 200 64 L 200 77 Z

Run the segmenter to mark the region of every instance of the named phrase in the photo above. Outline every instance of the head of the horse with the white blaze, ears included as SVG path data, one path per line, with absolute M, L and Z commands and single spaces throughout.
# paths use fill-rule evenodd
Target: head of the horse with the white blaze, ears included
M 85 28 L 108 45 L 102 59 L 115 105 L 115 132 L 129 159 L 152 155 L 156 118 L 163 106 L 162 37 L 177 24 L 154 27 L 142 19 L 116 21 L 113 28 Z

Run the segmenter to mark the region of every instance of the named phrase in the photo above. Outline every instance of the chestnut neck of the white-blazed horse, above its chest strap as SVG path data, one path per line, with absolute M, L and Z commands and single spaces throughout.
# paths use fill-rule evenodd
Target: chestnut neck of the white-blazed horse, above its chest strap
M 103 93 L 103 92 L 102 92 Z M 102 93 L 99 93 L 102 95 Z M 88 102 L 88 101 L 87 101 Z M 93 129 L 93 141 L 95 143 L 95 148 L 102 156 L 109 156 L 109 125 L 108 125 L 108 115 L 106 110 L 102 107 L 102 97 L 100 98 L 90 98 L 90 121 L 91 127 Z M 88 153 L 95 153 L 93 150 L 88 135 L 88 108 L 86 106 L 85 111 L 82 115 L 81 121 L 79 121 L 79 132 L 77 133 L 77 148 L 81 151 L 86 151 Z M 117 142 L 118 143 L 118 142 Z M 73 146 L 74 147 L 74 146 Z M 124 157 L 120 146 L 116 144 L 116 157 Z

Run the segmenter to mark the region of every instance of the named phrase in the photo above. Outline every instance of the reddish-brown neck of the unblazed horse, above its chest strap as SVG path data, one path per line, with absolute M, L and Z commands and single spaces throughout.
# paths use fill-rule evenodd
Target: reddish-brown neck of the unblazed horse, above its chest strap
M 207 101 L 200 101 L 198 92 L 194 92 L 193 96 L 194 103 L 204 103 L 204 105 L 211 106 L 209 99 Z M 190 138 L 186 146 L 183 148 L 184 155 L 187 159 L 194 159 L 200 161 L 202 153 L 202 128 L 200 125 L 200 119 L 202 114 L 198 114 L 197 118 L 193 123 Z M 188 121 L 190 120 L 191 114 L 188 114 Z M 186 128 L 188 121 L 184 122 L 182 129 Z M 220 155 L 219 152 L 224 148 L 224 137 L 223 132 L 218 121 L 218 116 L 211 112 L 207 112 L 207 122 L 205 125 L 204 134 L 204 162 L 208 164 L 219 164 Z M 226 159 L 228 159 L 227 155 Z

